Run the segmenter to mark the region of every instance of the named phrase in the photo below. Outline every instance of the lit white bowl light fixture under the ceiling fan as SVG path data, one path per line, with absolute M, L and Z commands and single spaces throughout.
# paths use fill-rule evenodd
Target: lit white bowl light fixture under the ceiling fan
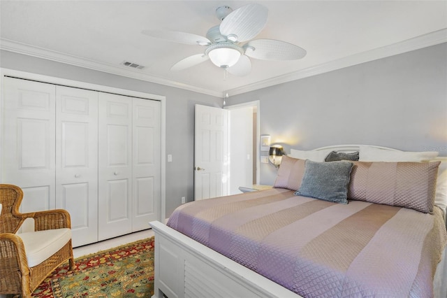
M 233 43 L 215 43 L 205 50 L 205 54 L 210 57 L 211 62 L 222 69 L 235 65 L 242 52 L 242 48 Z

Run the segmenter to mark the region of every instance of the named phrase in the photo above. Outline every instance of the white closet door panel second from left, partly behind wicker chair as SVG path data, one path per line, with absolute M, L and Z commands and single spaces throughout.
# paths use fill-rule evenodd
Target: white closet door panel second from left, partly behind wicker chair
M 56 208 L 73 246 L 98 241 L 98 92 L 56 87 Z

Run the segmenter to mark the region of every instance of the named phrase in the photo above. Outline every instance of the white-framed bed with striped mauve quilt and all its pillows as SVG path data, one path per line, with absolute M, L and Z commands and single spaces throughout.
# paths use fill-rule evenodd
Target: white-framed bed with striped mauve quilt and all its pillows
M 150 222 L 154 297 L 444 298 L 447 172 L 436 159 L 378 146 L 291 150 L 271 190 Z

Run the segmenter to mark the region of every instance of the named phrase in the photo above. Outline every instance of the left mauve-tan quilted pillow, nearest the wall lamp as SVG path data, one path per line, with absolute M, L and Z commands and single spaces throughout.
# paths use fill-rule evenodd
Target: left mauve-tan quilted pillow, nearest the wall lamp
M 305 173 L 305 160 L 282 156 L 279 165 L 277 179 L 273 187 L 287 188 L 288 190 L 298 190 L 300 188 L 302 176 Z

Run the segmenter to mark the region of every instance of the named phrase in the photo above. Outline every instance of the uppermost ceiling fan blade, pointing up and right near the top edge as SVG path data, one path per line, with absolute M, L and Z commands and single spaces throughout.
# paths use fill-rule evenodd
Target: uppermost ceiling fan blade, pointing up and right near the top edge
M 237 42 L 249 41 L 261 32 L 267 23 L 267 17 L 268 9 L 265 6 L 247 4 L 227 15 L 219 29 L 222 35 L 231 36 Z

